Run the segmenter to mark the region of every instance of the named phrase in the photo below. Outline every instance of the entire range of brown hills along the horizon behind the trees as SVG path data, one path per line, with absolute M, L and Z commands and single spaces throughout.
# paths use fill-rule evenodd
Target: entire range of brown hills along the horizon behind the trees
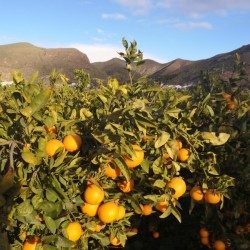
M 198 79 L 201 71 L 227 72 L 232 71 L 236 53 L 248 68 L 250 75 L 250 44 L 228 53 L 215 55 L 211 58 L 197 61 L 176 59 L 168 63 L 158 63 L 146 59 L 138 68 L 135 77 L 147 75 L 164 84 L 186 84 Z M 2 80 L 11 80 L 11 72 L 18 69 L 24 77 L 29 78 L 39 71 L 41 79 L 48 79 L 53 69 L 64 73 L 71 82 L 74 81 L 74 69 L 83 69 L 92 78 L 106 80 L 116 77 L 120 82 L 128 81 L 125 62 L 113 58 L 106 62 L 90 63 L 86 54 L 73 48 L 46 49 L 29 43 L 15 43 L 0 46 L 0 73 Z

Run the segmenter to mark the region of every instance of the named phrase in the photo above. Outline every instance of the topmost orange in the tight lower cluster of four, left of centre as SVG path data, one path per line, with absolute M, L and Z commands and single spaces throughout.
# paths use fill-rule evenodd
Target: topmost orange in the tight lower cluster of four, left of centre
M 89 184 L 83 193 L 85 202 L 99 205 L 104 199 L 104 191 L 95 184 Z

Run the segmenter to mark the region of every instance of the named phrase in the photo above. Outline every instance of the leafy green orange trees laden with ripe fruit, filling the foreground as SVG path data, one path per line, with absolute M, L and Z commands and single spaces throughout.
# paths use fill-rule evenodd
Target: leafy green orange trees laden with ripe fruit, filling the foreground
M 176 90 L 134 79 L 143 54 L 122 42 L 129 82 L 0 86 L 0 248 L 249 249 L 244 63 Z

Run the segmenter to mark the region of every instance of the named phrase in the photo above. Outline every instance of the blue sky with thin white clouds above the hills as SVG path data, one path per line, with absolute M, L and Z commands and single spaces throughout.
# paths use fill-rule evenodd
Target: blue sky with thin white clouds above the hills
M 73 47 L 91 62 L 119 57 L 122 37 L 162 63 L 250 43 L 250 0 L 8 0 L 0 9 L 0 45 Z

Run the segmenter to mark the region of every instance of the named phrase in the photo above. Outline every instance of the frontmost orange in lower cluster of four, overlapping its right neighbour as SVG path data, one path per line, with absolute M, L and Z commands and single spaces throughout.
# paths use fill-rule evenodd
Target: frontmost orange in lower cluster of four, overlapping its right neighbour
M 110 223 L 116 220 L 119 213 L 118 205 L 113 201 L 103 203 L 98 208 L 98 218 L 103 223 Z

